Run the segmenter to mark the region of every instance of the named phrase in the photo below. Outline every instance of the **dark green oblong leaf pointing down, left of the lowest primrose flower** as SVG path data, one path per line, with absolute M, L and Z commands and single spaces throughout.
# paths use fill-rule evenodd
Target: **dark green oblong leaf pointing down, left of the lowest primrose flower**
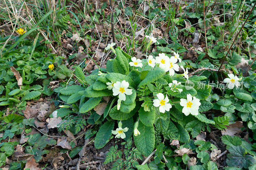
M 107 144 L 109 138 L 112 135 L 111 132 L 114 129 L 114 124 L 114 121 L 107 121 L 102 126 L 100 126 L 100 129 L 94 139 L 94 146 L 96 149 L 103 148 Z

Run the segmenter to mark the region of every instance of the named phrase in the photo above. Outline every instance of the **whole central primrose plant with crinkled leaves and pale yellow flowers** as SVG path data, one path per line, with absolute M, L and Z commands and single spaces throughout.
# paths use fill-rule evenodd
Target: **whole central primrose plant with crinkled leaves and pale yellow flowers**
M 213 106 L 205 100 L 211 94 L 211 86 L 202 87 L 200 81 L 205 76 L 189 77 L 177 53 L 149 55 L 140 60 L 113 46 L 108 49 L 116 57 L 108 60 L 106 68 L 85 76 L 76 67 L 75 75 L 82 86 L 72 85 L 59 91 L 60 98 L 72 104 L 73 112 L 89 114 L 87 123 L 99 125 L 96 148 L 104 147 L 112 135 L 125 141 L 133 136 L 138 150 L 148 156 L 155 149 L 155 142 L 188 142 L 188 122 L 215 123 L 200 113 Z M 186 81 L 194 86 L 185 88 Z M 57 111 L 57 117 L 64 117 L 68 109 Z

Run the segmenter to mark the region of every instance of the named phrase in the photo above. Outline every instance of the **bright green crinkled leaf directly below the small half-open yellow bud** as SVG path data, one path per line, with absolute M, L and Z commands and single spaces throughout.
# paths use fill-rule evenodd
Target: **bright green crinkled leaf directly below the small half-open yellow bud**
M 143 107 L 139 109 L 140 121 L 146 126 L 153 126 L 156 118 L 156 110 L 153 107 L 152 111 L 146 112 Z

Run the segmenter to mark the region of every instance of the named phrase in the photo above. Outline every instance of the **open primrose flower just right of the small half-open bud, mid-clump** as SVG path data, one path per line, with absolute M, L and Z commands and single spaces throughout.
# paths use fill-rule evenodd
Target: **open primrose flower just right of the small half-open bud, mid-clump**
M 163 93 L 158 93 L 158 94 L 156 94 L 156 97 L 158 99 L 153 100 L 153 102 L 154 102 L 153 105 L 155 107 L 159 107 L 159 112 L 164 113 L 165 110 L 170 111 L 170 108 L 172 108 L 172 105 L 170 103 L 168 103 L 169 99 L 168 99 L 167 95 L 164 98 Z

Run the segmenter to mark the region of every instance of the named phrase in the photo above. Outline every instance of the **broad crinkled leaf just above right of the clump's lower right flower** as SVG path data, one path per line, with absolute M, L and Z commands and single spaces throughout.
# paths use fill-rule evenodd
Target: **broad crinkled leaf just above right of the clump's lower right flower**
M 196 98 L 200 100 L 207 99 L 208 96 L 210 96 L 212 91 L 211 85 L 205 85 L 201 82 L 194 82 L 195 86 L 194 89 L 196 89 Z

